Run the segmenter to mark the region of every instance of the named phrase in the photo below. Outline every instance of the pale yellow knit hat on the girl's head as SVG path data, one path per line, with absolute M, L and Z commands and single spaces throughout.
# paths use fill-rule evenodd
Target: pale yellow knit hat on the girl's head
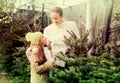
M 42 38 L 41 32 L 28 32 L 25 35 L 25 38 L 28 42 L 31 42 L 33 44 L 39 44 L 40 39 Z

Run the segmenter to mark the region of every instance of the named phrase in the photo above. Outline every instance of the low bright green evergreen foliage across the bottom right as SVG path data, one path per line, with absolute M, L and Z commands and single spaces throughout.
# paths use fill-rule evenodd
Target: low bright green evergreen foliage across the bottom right
M 50 82 L 55 83 L 54 80 L 64 80 L 64 83 L 74 83 L 71 80 L 75 80 L 75 83 L 110 83 L 119 81 L 120 68 L 114 62 L 117 58 L 111 60 L 106 59 L 105 56 L 68 58 L 65 68 L 58 67 L 52 70 L 53 77 L 49 78 Z

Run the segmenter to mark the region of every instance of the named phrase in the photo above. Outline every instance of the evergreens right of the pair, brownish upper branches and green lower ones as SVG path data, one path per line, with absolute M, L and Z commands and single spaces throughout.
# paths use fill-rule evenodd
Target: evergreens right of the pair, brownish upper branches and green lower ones
M 87 33 L 78 39 L 73 32 L 71 37 L 65 37 L 65 43 L 70 47 L 66 54 L 59 52 L 57 57 L 66 62 L 65 67 L 52 70 L 50 83 L 110 83 L 119 81 L 120 52 L 114 44 L 100 43 L 101 37 L 92 43 L 87 43 Z M 87 51 L 95 46 L 91 57 Z M 113 76 L 114 75 L 114 76 Z M 74 81 L 73 81 L 74 80 Z

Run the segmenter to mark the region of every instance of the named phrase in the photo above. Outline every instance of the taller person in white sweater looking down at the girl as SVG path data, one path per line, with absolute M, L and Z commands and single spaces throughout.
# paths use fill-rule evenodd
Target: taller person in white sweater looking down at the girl
M 63 10 L 60 7 L 53 8 L 50 17 L 52 24 L 44 29 L 44 36 L 51 41 L 53 55 L 57 55 L 58 52 L 65 54 L 69 47 L 64 43 L 64 37 L 70 37 L 68 31 L 73 31 L 80 38 L 78 27 L 75 22 L 64 19 Z M 64 62 L 57 60 L 57 65 L 64 67 Z

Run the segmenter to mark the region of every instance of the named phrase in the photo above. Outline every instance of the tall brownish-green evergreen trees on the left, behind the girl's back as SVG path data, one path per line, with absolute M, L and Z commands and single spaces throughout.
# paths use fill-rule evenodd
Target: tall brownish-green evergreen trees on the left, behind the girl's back
M 25 34 L 30 31 L 25 18 L 14 21 L 9 12 L 0 11 L 0 64 L 11 83 L 30 83 L 29 61 L 25 55 Z

